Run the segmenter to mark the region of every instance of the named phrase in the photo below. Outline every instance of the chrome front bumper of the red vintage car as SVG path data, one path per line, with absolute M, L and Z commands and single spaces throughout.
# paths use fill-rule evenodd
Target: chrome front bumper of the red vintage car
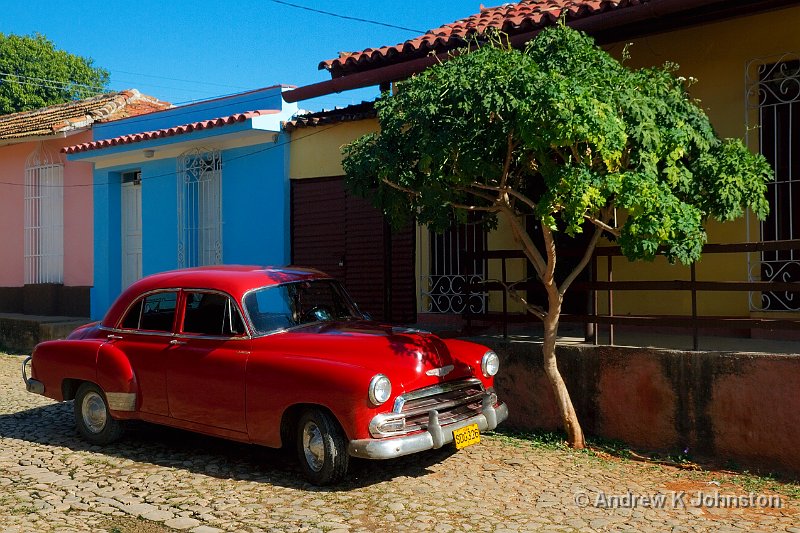
M 353 457 L 362 459 L 392 459 L 425 450 L 441 448 L 453 442 L 453 430 L 478 424 L 481 431 L 489 431 L 508 418 L 508 407 L 500 403 L 497 407 L 484 405 L 480 414 L 446 426 L 439 425 L 439 413 L 431 411 L 428 414 L 428 427 L 425 431 L 404 435 L 401 437 L 387 437 L 384 439 L 359 439 L 351 440 L 347 451 Z

